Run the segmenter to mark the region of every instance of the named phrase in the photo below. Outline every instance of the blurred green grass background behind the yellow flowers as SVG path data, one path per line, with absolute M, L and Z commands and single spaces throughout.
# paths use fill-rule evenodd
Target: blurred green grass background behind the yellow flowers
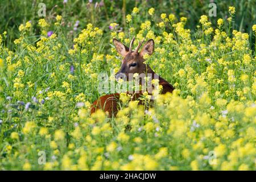
M 217 17 L 209 17 L 213 26 L 216 27 L 218 18 L 228 17 L 228 7 L 236 7 L 233 28 L 250 35 L 251 48 L 254 49 L 255 38 L 252 36 L 251 27 L 256 23 L 256 0 L 226 0 L 226 1 L 175 1 L 175 0 L 1 0 L 0 1 L 0 34 L 7 31 L 8 38 L 6 45 L 13 48 L 13 40 L 19 37 L 18 26 L 28 20 L 35 22 L 43 17 L 38 16 L 39 3 L 46 4 L 46 19 L 49 23 L 55 21 L 57 14 L 65 18 L 65 27 L 67 36 L 71 40 L 75 37 L 87 23 L 93 23 L 94 26 L 102 28 L 105 32 L 109 31 L 110 23 L 118 23 L 119 26 L 125 27 L 125 16 L 133 11 L 137 6 L 140 11 L 142 21 L 148 17 L 148 9 L 154 7 L 156 14 L 166 13 L 175 14 L 177 18 L 185 16 L 188 18 L 187 28 L 191 31 L 196 30 L 196 25 L 201 15 L 208 15 L 210 10 L 209 3 L 216 3 Z M 160 12 L 159 12 L 160 11 Z M 160 19 L 160 17 L 159 17 Z M 76 21 L 79 20 L 79 27 L 74 30 Z M 53 23 L 52 23 L 53 25 Z M 139 24 L 138 24 L 139 26 Z M 34 23 L 35 30 L 38 30 Z M 108 34 L 105 34 L 106 36 Z

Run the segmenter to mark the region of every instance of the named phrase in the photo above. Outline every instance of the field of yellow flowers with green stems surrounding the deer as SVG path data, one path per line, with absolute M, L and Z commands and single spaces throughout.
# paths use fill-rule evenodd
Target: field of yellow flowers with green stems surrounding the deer
M 73 45 L 60 15 L 52 31 L 46 19 L 20 24 L 15 51 L 0 35 L 0 170 L 256 169 L 256 57 L 249 35 L 232 27 L 236 9 L 216 28 L 202 15 L 193 34 L 187 18 L 154 8 L 135 28 L 139 11 L 108 36 L 87 24 Z M 98 74 L 121 65 L 112 39 L 129 45 L 133 36 L 154 39 L 146 61 L 174 93 L 148 110 L 123 100 L 116 118 L 90 115 Z

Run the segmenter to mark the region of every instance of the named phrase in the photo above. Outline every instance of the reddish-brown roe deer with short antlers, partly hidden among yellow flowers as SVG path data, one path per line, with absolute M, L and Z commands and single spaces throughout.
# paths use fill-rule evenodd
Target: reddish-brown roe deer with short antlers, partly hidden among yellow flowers
M 143 56 L 145 54 L 152 55 L 152 53 L 154 52 L 154 40 L 148 40 L 142 47 L 141 52 L 138 51 L 139 48 L 142 46 L 144 40 L 139 42 L 139 45 L 137 46 L 135 51 L 132 51 L 131 49 L 133 46 L 133 42 L 134 38 L 131 40 L 130 47 L 128 48 L 117 39 L 113 39 L 113 43 L 115 48 L 117 49 L 117 52 L 123 57 L 121 69 L 117 72 L 117 75 L 119 73 L 124 74 L 126 77 L 128 77 L 129 73 L 151 73 L 152 75 L 156 75 L 155 72 L 152 71 L 152 69 L 149 67 L 149 65 L 144 64 L 145 60 L 143 59 Z M 162 94 L 165 94 L 167 92 L 172 93 L 174 87 L 171 84 L 169 84 L 160 76 L 158 76 L 158 80 L 159 85 L 162 85 L 163 88 Z M 134 93 L 132 100 L 137 100 L 140 96 L 142 96 L 141 91 L 139 93 Z M 97 109 L 102 109 L 105 112 L 108 111 L 109 117 L 115 117 L 119 109 L 119 102 L 119 93 L 102 96 L 98 100 L 93 102 L 91 106 L 91 114 L 94 113 Z

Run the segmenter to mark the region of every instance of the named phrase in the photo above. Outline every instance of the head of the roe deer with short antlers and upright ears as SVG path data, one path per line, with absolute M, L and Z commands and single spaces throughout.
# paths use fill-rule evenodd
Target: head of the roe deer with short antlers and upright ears
M 125 75 L 128 78 L 129 73 L 146 73 L 147 68 L 144 64 L 143 56 L 145 54 L 152 55 L 154 52 L 154 40 L 148 40 L 142 47 L 141 52 L 139 48 L 142 46 L 144 39 L 139 42 L 135 51 L 132 50 L 134 38 L 131 40 L 130 47 L 126 47 L 124 44 L 119 42 L 117 39 L 113 39 L 113 43 L 117 52 L 123 57 L 121 69 L 115 75 L 118 78 L 122 78 L 122 75 Z M 151 69 L 150 69 L 151 70 Z

